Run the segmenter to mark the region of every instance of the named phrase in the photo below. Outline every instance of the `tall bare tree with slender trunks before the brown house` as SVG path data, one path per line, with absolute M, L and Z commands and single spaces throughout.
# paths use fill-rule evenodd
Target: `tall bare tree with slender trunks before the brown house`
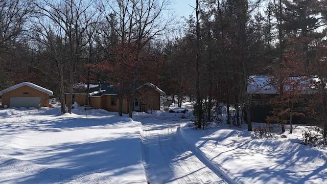
M 166 34 L 167 29 L 173 23 L 173 18 L 164 16 L 165 11 L 168 10 L 170 5 L 169 0 L 115 0 L 115 1 L 105 1 L 102 3 L 104 6 L 110 8 L 110 13 L 115 16 L 118 21 L 118 27 L 115 29 L 116 33 L 119 35 L 119 41 L 125 48 L 125 44 L 133 45 L 135 50 L 134 63 L 130 65 L 130 76 L 131 81 L 131 94 L 129 95 L 129 117 L 132 117 L 132 111 L 134 109 L 134 98 L 135 98 L 135 88 L 136 82 L 142 77 L 142 68 L 136 67 L 137 63 L 142 62 L 140 54 L 150 42 L 150 40 Z M 104 11 L 104 15 L 107 20 L 109 20 L 110 15 L 108 12 Z M 129 67 L 129 66 L 127 66 Z M 121 94 L 122 94 L 122 84 L 124 81 L 121 79 Z M 120 104 L 122 104 L 120 98 Z M 120 106 L 120 115 L 122 108 Z

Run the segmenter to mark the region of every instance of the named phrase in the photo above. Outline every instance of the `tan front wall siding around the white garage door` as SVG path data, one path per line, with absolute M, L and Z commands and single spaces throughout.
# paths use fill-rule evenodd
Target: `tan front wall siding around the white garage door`
M 16 89 L 8 91 L 7 93 L 4 93 L 2 95 L 2 105 L 8 105 L 10 107 L 10 97 L 40 97 L 41 106 L 49 107 L 49 95 L 27 85 L 18 87 Z

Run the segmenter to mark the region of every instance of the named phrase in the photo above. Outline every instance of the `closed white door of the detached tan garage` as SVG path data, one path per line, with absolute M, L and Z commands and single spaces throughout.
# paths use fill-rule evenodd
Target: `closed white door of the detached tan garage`
M 40 107 L 40 97 L 10 97 L 10 107 Z

